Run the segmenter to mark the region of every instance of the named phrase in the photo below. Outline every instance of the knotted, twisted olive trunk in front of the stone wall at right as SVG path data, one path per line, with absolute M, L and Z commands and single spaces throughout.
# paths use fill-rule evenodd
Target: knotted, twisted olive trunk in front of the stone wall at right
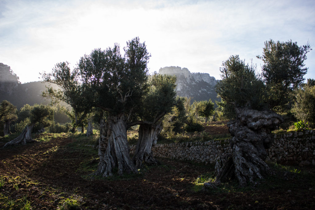
M 239 187 L 244 187 L 272 173 L 265 162 L 266 149 L 273 142 L 271 131 L 283 122 L 283 118 L 272 111 L 249 108 L 237 108 L 236 114 L 236 120 L 228 123 L 232 155 L 216 161 L 216 180 L 205 183 L 204 187 L 214 187 L 231 178 L 237 178 Z

